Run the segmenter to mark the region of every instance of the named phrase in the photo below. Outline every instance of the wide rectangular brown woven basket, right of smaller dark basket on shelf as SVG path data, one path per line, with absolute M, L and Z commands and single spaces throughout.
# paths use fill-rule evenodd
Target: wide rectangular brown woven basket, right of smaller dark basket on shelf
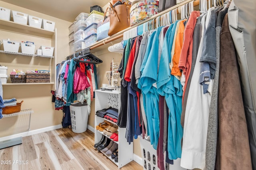
M 26 73 L 27 83 L 49 83 L 50 73 Z

